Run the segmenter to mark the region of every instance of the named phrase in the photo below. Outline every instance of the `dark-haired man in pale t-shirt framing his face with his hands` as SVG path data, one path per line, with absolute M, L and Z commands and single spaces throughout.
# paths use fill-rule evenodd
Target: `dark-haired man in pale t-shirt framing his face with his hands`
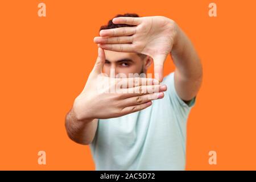
M 96 64 L 66 117 L 69 137 L 90 144 L 97 170 L 184 170 L 187 118 L 203 75 L 191 41 L 174 20 L 125 14 L 102 27 L 94 42 Z M 170 53 L 176 69 L 163 78 Z M 162 83 L 137 78 L 129 85 L 130 78 L 118 78 L 110 87 L 121 82 L 127 86 L 122 92 L 96 91 L 97 84 L 113 79 L 97 81 L 102 69 L 108 76 L 113 70 L 140 74 L 152 61 Z

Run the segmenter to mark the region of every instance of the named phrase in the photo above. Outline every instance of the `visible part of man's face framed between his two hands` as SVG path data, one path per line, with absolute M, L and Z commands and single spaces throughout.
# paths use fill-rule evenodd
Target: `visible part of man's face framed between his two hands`
M 123 73 L 126 77 L 129 77 L 129 73 L 141 74 L 147 71 L 147 57 L 142 60 L 137 53 L 104 51 L 106 61 L 103 72 L 108 76 L 110 76 L 110 69 L 115 71 L 115 76 Z

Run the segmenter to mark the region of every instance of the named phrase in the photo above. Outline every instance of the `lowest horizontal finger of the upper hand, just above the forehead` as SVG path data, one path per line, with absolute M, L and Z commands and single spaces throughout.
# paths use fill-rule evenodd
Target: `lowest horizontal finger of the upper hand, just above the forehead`
M 98 44 L 102 49 L 115 52 L 135 52 L 133 44 Z

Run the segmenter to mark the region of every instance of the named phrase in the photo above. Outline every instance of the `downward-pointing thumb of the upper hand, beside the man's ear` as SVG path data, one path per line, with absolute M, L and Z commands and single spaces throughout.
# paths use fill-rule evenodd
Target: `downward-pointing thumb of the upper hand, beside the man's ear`
M 159 82 L 163 81 L 163 65 L 166 57 L 167 55 L 157 55 L 154 57 L 154 77 Z

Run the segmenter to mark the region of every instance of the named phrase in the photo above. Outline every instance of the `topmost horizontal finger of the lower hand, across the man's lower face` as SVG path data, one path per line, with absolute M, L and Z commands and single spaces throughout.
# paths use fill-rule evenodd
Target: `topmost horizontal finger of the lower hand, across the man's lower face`
M 159 85 L 159 81 L 154 78 L 120 78 L 117 80 L 116 84 L 119 85 L 119 88 L 133 88 L 141 85 Z

